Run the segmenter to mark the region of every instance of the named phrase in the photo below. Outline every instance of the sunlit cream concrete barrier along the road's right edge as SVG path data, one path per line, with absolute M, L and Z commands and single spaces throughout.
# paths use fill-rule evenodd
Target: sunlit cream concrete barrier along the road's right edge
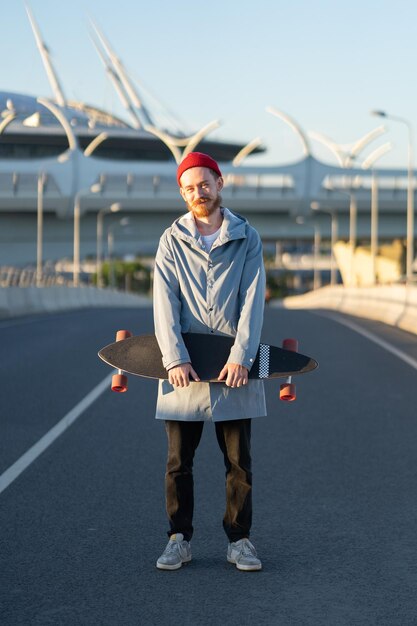
M 417 286 L 323 287 L 282 300 L 287 309 L 333 309 L 417 334 Z

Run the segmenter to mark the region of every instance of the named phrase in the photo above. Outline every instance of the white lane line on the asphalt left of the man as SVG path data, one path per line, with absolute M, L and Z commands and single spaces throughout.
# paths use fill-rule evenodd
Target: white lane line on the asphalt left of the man
M 108 389 L 113 374 L 106 376 L 79 402 L 69 413 L 53 426 L 39 441 L 27 450 L 13 465 L 0 476 L 0 493 L 4 491 L 24 470 L 29 467 L 63 432 L 93 404 L 101 394 Z

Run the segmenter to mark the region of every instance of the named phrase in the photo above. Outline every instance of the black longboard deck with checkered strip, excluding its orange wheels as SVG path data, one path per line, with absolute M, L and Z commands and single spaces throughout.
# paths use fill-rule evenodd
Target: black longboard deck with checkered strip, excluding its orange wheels
M 234 338 L 197 333 L 186 333 L 183 338 L 193 368 L 201 381 L 217 382 L 218 375 L 229 358 Z M 116 341 L 102 348 L 98 355 L 108 365 L 128 374 L 168 378 L 155 335 L 137 335 Z M 287 378 L 306 374 L 316 367 L 317 361 L 309 356 L 260 344 L 249 378 Z

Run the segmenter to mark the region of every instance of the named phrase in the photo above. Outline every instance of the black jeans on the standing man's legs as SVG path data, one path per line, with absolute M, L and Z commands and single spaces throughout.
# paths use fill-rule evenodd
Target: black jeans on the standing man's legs
M 166 421 L 168 460 L 165 474 L 168 536 L 193 534 L 194 454 L 204 422 Z M 226 511 L 223 528 L 229 541 L 249 537 L 252 524 L 251 420 L 215 422 L 216 437 L 226 467 Z

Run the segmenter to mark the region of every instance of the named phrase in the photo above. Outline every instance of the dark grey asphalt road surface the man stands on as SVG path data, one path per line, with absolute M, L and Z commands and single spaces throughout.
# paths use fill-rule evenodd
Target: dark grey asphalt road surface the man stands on
M 156 382 L 99 394 L 0 493 L 0 623 L 417 624 L 417 336 L 370 321 L 269 308 L 263 340 L 295 336 L 320 369 L 254 422 L 257 573 L 226 562 L 224 469 L 212 424 L 195 463 L 193 561 L 155 568 L 166 544 L 165 433 Z M 150 310 L 0 323 L 0 474 L 109 374 L 96 357 Z M 408 354 L 410 362 L 387 350 Z

